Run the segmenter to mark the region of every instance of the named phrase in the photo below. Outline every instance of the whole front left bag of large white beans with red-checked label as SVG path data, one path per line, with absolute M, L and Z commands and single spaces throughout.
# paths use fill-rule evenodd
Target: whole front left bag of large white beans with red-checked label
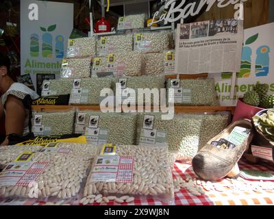
M 21 153 L 5 167 L 0 175 L 1 197 L 77 198 L 97 149 L 90 145 L 66 153 L 68 147 L 60 147 L 59 151 L 47 151 L 51 146 L 45 149 Z

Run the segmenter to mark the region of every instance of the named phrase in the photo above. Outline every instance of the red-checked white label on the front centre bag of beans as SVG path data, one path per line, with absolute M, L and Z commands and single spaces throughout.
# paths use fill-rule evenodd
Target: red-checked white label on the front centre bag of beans
M 132 183 L 134 157 L 99 156 L 92 169 L 92 182 Z

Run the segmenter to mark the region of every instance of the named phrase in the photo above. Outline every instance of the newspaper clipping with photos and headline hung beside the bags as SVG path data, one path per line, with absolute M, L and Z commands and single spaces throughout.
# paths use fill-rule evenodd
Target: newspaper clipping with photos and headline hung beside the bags
M 175 73 L 225 73 L 240 70 L 243 22 L 219 19 L 177 25 Z

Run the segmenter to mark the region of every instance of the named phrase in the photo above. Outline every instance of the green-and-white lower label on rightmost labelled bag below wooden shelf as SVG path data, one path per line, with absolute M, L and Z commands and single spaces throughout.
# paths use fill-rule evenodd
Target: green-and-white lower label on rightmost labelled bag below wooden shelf
M 140 145 L 144 144 L 166 144 L 166 132 L 157 129 L 141 129 Z

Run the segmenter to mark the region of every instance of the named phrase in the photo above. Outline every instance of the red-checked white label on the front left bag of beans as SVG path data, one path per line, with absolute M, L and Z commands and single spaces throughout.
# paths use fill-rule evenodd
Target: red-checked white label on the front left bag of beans
M 47 165 L 49 162 L 12 162 L 1 172 L 0 186 L 32 185 Z

